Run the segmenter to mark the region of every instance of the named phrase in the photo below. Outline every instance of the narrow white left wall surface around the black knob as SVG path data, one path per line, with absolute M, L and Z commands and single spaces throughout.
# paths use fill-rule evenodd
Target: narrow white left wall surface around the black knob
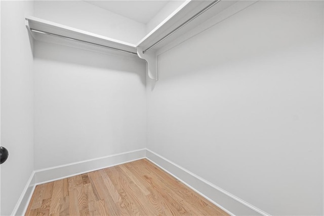
M 33 71 L 25 16 L 33 2 L 1 2 L 1 215 L 10 215 L 33 171 Z

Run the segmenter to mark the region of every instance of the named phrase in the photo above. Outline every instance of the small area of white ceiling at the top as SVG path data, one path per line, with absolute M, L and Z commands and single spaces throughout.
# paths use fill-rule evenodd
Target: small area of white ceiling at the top
M 147 24 L 166 4 L 164 0 L 150 1 L 86 1 L 137 22 Z

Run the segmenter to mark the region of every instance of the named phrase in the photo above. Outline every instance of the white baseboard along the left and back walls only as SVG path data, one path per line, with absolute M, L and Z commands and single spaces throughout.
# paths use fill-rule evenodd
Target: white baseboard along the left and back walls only
M 73 175 L 83 174 L 107 167 L 128 163 L 145 158 L 146 150 L 140 149 L 91 160 L 38 169 L 31 173 L 29 181 L 22 192 L 12 215 L 24 215 L 36 185 L 53 182 Z

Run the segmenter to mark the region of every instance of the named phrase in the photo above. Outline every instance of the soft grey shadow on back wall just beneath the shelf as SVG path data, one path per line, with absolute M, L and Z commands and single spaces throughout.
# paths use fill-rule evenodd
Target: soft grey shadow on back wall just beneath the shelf
M 135 55 L 124 54 L 119 51 L 110 51 L 108 49 L 93 49 L 93 51 L 89 51 L 34 41 L 34 58 L 107 69 L 107 73 L 111 70 L 133 73 L 138 76 L 144 86 L 146 85 L 145 61 Z

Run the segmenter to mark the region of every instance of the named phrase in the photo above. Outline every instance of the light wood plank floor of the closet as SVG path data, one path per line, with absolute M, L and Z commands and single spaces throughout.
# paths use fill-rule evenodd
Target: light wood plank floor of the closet
M 38 185 L 26 215 L 228 215 L 146 159 Z

